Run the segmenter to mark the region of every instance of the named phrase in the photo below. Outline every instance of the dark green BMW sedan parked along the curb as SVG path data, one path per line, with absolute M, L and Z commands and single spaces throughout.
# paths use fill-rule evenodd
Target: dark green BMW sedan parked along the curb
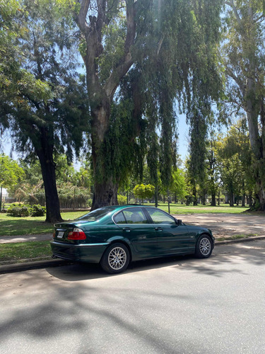
M 100 263 L 107 273 L 121 273 L 131 261 L 192 254 L 211 256 L 211 230 L 189 226 L 156 207 L 101 207 L 71 222 L 54 225 L 53 257 Z

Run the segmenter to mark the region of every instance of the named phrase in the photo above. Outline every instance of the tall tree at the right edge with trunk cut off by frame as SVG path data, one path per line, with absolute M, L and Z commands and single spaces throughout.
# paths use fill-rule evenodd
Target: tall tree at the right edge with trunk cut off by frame
M 256 159 L 259 209 L 265 210 L 265 16 L 262 0 L 225 1 L 223 58 L 228 102 L 245 110 Z

